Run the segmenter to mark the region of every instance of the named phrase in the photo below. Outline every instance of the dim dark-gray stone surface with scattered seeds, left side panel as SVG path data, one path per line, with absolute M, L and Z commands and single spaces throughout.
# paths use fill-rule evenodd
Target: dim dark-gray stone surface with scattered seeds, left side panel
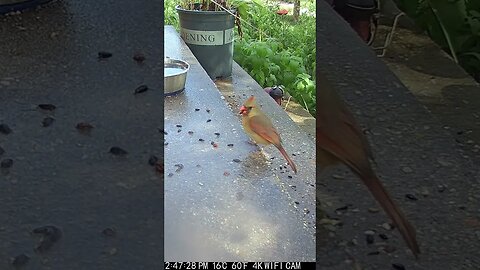
M 0 134 L 0 159 L 14 161 L 0 172 L 0 269 L 22 253 L 24 269 L 163 267 L 162 176 L 147 162 L 163 155 L 161 14 L 156 1 L 58 1 L 0 16 L 0 122 L 13 130 Z M 140 84 L 151 90 L 134 96 Z M 30 231 L 48 224 L 63 236 L 37 254 Z

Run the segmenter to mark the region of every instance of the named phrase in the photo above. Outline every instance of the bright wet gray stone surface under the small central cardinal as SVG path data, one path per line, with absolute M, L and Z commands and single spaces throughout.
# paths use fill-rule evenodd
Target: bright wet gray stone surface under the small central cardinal
M 273 100 L 250 77 L 246 79 L 252 89 L 243 93 L 260 91 L 259 103 L 267 113 L 273 113 L 285 149 L 296 154 L 292 156 L 299 171 L 295 175 L 289 167 L 282 167 L 285 162 L 273 146 L 265 148 L 266 157 L 248 143 L 238 116 L 239 104 L 229 107 L 168 26 L 165 55 L 191 65 L 186 90 L 165 99 L 165 259 L 313 261 L 315 174 L 311 139 L 278 105 L 273 106 Z M 240 97 L 243 101 L 247 95 Z

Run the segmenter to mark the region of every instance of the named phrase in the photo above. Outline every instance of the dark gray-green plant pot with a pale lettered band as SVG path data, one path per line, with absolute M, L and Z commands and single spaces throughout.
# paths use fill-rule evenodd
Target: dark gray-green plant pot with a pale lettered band
M 210 78 L 230 77 L 235 24 L 241 35 L 237 10 L 226 0 L 181 0 L 176 10 L 180 36 Z

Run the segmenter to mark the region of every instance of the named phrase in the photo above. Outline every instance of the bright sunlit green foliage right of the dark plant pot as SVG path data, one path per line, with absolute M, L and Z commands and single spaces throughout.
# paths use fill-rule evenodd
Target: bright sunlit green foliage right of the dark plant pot
M 314 8 L 314 1 L 304 1 Z M 283 85 L 290 95 L 315 115 L 315 17 L 298 22 L 279 16 L 276 4 L 255 2 L 243 17 L 243 38 L 235 41 L 234 59 L 262 87 Z

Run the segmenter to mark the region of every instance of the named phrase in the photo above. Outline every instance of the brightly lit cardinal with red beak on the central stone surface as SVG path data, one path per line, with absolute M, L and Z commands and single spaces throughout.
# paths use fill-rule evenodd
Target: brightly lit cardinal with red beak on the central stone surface
M 240 114 L 242 115 L 242 125 L 247 134 L 259 144 L 273 144 L 282 153 L 287 160 L 292 170 L 297 173 L 297 167 L 293 160 L 288 156 L 282 146 L 282 139 L 277 130 L 273 127 L 272 121 L 260 110 L 255 97 L 251 96 L 240 107 Z

